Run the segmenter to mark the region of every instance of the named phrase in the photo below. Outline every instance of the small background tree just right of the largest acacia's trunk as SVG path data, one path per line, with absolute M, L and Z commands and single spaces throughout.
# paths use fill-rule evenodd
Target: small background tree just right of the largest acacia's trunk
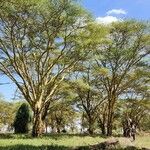
M 60 133 L 66 131 L 66 127 L 74 128 L 77 118 L 73 105 L 74 96 L 69 80 L 64 80 L 61 84 L 61 91 L 57 93 L 48 110 L 47 125 L 51 127 L 52 132 Z

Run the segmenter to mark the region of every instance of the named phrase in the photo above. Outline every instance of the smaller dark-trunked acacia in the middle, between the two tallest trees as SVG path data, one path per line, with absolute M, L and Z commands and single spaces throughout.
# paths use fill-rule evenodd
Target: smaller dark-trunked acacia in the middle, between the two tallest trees
M 78 109 L 83 113 L 83 119 L 86 121 L 88 133 L 93 134 L 97 120 L 98 108 L 103 103 L 104 98 L 95 87 L 95 80 L 92 76 L 91 65 L 88 66 L 82 76 L 75 81 L 73 87 L 77 93 L 75 103 Z

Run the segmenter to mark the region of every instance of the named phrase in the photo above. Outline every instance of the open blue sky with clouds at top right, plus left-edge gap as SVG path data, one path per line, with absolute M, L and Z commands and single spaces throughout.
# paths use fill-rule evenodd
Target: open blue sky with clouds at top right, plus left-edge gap
M 150 20 L 150 0 L 81 0 L 98 21 L 111 22 L 123 18 Z M 0 83 L 10 82 L 0 77 Z M 0 85 L 0 93 L 6 100 L 14 97 L 15 86 Z

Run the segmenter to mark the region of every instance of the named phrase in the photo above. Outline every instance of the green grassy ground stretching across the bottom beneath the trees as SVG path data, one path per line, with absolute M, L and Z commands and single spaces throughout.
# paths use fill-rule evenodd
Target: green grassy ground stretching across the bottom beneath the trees
M 123 138 L 117 138 L 126 143 Z M 34 138 L 21 135 L 1 135 L 0 150 L 69 150 L 76 146 L 88 146 L 107 140 L 100 136 L 50 135 Z M 128 139 L 129 140 L 129 139 Z M 150 137 L 138 136 L 133 145 L 150 148 Z

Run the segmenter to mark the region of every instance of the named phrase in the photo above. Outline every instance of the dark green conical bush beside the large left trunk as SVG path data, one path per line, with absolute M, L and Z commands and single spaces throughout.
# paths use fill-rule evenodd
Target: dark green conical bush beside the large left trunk
M 28 133 L 29 123 L 31 122 L 31 114 L 29 106 L 23 103 L 16 113 L 14 120 L 15 133 Z

